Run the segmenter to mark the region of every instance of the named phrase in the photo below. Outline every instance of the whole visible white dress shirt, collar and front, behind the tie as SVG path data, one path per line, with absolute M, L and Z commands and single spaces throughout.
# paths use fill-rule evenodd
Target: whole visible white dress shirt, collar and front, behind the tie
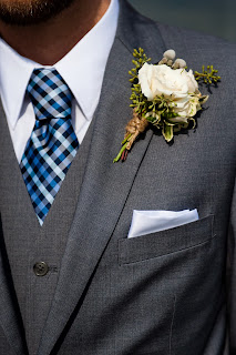
M 119 1 L 111 0 L 102 19 L 53 67 L 21 57 L 0 39 L 0 97 L 18 161 L 35 123 L 25 89 L 33 69 L 55 68 L 71 89 L 72 124 L 81 143 L 98 106 L 107 58 L 115 38 Z

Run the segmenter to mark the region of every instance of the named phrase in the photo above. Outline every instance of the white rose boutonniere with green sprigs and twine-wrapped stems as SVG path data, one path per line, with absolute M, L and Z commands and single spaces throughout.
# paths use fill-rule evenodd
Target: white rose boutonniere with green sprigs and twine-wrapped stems
M 203 67 L 202 72 L 187 71 L 186 62 L 175 59 L 174 50 L 167 50 L 157 64 L 148 64 L 151 58 L 142 48 L 135 49 L 133 55 L 135 67 L 129 72 L 133 118 L 113 162 L 126 160 L 134 141 L 150 124 L 162 131 L 166 142 L 173 140 L 175 132 L 194 128 L 194 116 L 208 100 L 208 95 L 199 92 L 198 82 L 211 85 L 220 80 L 213 65 Z

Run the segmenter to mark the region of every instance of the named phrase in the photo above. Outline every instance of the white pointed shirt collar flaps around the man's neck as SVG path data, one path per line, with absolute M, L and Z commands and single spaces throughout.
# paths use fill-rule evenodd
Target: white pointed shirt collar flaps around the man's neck
M 91 120 L 99 103 L 106 61 L 115 38 L 119 1 L 111 0 L 102 19 L 53 65 Z M 25 89 L 33 69 L 42 65 L 17 53 L 0 39 L 0 94 L 12 128 L 22 114 Z

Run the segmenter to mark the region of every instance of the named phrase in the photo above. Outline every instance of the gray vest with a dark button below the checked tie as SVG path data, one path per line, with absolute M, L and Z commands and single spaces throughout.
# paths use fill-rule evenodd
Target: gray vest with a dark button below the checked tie
M 61 260 L 90 151 L 92 125 L 69 169 L 43 226 L 40 226 L 19 169 L 7 120 L 4 114 L 0 116 L 2 230 L 30 355 L 37 354 L 57 287 Z M 37 273 L 40 273 L 40 264 L 37 263 L 40 262 L 49 267 L 43 276 L 37 276 Z M 43 270 L 41 271 L 43 274 Z

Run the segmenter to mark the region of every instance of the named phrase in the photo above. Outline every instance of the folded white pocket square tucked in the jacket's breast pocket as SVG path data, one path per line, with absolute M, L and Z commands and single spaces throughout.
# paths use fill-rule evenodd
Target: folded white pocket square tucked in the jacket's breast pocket
M 197 221 L 197 210 L 184 211 L 133 211 L 131 229 L 127 237 L 174 229 L 176 226 Z

